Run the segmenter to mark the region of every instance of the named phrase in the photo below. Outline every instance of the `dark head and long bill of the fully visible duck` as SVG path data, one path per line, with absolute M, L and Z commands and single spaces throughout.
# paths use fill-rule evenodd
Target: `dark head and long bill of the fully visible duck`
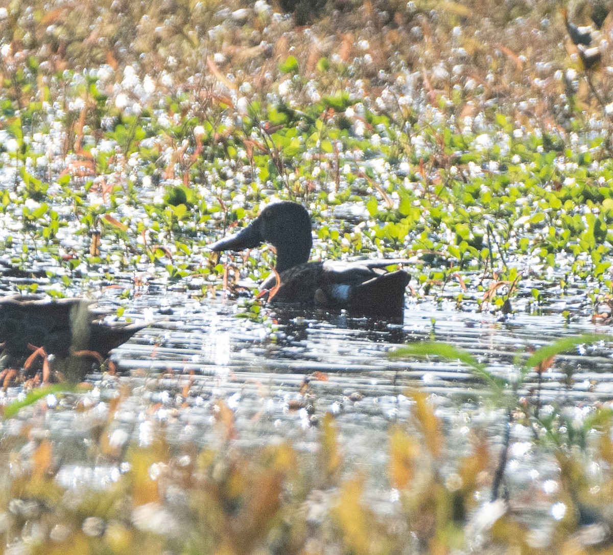
M 307 262 L 313 246 L 307 210 L 291 202 L 268 204 L 246 228 L 213 243 L 209 249 L 215 252 L 245 250 L 262 243 L 275 247 L 279 272 Z

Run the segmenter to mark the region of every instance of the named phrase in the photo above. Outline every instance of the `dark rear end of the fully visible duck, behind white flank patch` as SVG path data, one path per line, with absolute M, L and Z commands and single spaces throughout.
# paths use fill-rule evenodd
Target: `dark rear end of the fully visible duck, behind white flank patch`
M 373 277 L 352 289 L 349 310 L 367 316 L 402 317 L 411 274 L 403 270 Z

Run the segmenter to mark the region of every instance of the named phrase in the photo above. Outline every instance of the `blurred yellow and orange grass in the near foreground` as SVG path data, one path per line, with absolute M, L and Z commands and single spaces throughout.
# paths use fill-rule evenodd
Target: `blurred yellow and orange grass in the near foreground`
M 547 495 L 547 516 L 538 509 L 543 492 L 525 494 L 535 497 L 523 500 L 523 511 L 509 502 L 508 492 L 488 501 L 501 464 L 491 448 L 495 438 L 470 433 L 466 452 L 457 456 L 425 394 L 413 392 L 409 421 L 389 428 L 389 503 L 381 511 L 367 502 L 368 475 L 345 464 L 330 414 L 319 424 L 316 452 L 287 443 L 241 448 L 234 414 L 223 401 L 212 411 L 219 439 L 214 448 L 172 447 L 162 424 L 138 443 L 122 443 L 111 425 L 126 395 L 111 400 L 105 423 L 93 428 L 85 467 L 91 475 L 108 471 L 108 479 L 97 483 L 80 481 L 75 470 L 75 483 L 67 486 L 59 476 L 67 461 L 58 446 L 30 435 L 31 427 L 4 437 L 4 553 L 611 552 L 610 411 L 601 414 L 590 446 L 598 473 L 586 464 L 585 452 L 550 449 L 559 479 Z M 75 410 L 85 417 L 94 408 L 77 402 Z

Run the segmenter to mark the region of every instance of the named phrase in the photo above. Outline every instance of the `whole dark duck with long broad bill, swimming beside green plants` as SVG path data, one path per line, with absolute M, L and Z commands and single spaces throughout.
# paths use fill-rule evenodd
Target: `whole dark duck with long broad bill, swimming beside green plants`
M 283 201 L 268 204 L 249 225 L 211 244 L 213 252 L 253 249 L 267 243 L 275 247 L 273 272 L 260 289 L 274 303 L 345 309 L 363 316 L 402 317 L 405 289 L 411 275 L 386 266 L 405 259 L 326 260 L 308 262 L 313 247 L 311 217 L 302 204 Z M 278 287 L 277 287 L 278 285 Z

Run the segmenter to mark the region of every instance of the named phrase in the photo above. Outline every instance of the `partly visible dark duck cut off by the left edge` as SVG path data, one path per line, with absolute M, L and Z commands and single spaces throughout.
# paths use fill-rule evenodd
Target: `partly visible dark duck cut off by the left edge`
M 23 360 L 32 346 L 65 359 L 74 351 L 90 351 L 108 359 L 109 353 L 150 325 L 105 322 L 91 310 L 94 301 L 72 297 L 47 300 L 39 295 L 0 297 L 2 354 Z

